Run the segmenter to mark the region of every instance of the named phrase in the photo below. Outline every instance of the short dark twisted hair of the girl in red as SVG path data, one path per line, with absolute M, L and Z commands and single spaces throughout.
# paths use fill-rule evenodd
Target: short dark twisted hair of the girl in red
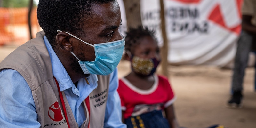
M 136 45 L 140 44 L 140 39 L 145 37 L 145 36 L 151 36 L 153 37 L 156 41 L 155 37 L 155 31 L 154 30 L 149 30 L 148 27 L 143 27 L 143 26 L 138 26 L 137 28 L 129 28 L 129 31 L 126 32 L 126 37 L 125 37 L 125 51 L 132 51 L 132 48 L 135 47 Z

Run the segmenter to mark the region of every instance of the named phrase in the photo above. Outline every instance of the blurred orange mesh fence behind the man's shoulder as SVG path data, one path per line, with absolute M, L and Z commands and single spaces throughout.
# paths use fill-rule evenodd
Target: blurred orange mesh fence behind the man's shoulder
M 32 36 L 42 30 L 36 18 L 36 8 L 31 12 Z M 0 45 L 21 45 L 30 39 L 28 8 L 0 8 Z

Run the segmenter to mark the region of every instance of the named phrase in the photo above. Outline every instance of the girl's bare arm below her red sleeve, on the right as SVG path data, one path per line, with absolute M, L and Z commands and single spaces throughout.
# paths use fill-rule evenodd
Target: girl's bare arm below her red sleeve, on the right
M 178 122 L 176 121 L 176 118 L 175 118 L 173 105 L 168 106 L 167 108 L 164 109 L 164 111 L 165 111 L 166 119 L 168 120 L 171 128 L 179 128 Z

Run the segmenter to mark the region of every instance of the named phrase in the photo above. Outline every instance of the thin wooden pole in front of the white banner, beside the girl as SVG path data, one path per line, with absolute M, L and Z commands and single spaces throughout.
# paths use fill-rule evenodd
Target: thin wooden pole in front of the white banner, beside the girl
M 164 76 L 169 76 L 168 74 L 168 60 L 167 60 L 167 56 L 168 56 L 168 39 L 167 39 L 167 35 L 166 35 L 166 30 L 165 30 L 165 18 L 164 18 L 164 1 L 160 0 L 160 7 L 161 7 L 161 11 L 160 11 L 160 17 L 161 17 L 161 28 L 162 28 L 162 36 L 163 36 L 163 47 L 161 48 L 161 56 L 162 56 L 162 63 L 161 63 L 161 67 L 162 67 L 162 74 Z

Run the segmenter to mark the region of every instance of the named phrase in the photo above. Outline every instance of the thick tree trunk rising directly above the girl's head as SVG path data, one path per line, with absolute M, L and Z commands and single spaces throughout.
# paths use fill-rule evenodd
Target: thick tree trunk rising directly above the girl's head
M 127 30 L 142 26 L 140 18 L 140 0 L 123 0 L 127 20 Z

